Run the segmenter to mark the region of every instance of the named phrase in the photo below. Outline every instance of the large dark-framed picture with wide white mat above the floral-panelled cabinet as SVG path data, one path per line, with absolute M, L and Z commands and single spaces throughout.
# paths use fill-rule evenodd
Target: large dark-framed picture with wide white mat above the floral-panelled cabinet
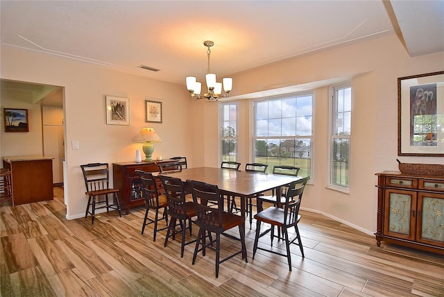
M 398 155 L 444 156 L 444 71 L 398 78 Z

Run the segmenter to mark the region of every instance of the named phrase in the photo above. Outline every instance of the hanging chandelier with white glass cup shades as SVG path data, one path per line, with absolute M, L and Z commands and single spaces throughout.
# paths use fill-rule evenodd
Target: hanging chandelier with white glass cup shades
M 222 83 L 216 82 L 216 74 L 210 73 L 210 47 L 214 45 L 214 42 L 211 40 L 207 40 L 203 42 L 203 45 L 207 46 L 207 56 L 208 56 L 208 69 L 207 74 L 205 74 L 205 80 L 207 83 L 208 92 L 205 94 L 200 94 L 202 89 L 202 84 L 196 81 L 195 76 L 187 76 L 187 90 L 191 97 L 198 99 L 208 99 L 208 100 L 217 100 L 219 98 L 228 98 L 230 96 L 230 92 L 233 85 L 233 79 L 230 77 L 223 78 L 223 90 L 225 94 L 222 93 Z

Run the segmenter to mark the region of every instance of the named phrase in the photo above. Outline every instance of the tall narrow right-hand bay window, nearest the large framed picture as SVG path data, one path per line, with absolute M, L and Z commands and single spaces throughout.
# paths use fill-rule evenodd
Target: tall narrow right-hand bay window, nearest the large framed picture
M 350 135 L 352 124 L 352 87 L 333 88 L 332 132 L 330 139 L 330 185 L 348 188 L 350 178 Z

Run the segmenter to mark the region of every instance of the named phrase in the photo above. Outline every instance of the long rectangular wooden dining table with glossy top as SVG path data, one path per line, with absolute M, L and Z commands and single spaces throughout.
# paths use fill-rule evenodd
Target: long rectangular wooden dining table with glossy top
M 227 196 L 237 196 L 241 200 L 241 216 L 246 217 L 246 197 L 254 196 L 275 189 L 276 195 L 281 195 L 281 187 L 289 185 L 300 176 L 273 175 L 268 173 L 256 173 L 222 169 L 216 167 L 194 167 L 182 171 L 165 171 L 157 175 L 180 178 L 187 188 L 187 180 L 197 180 L 211 185 L 217 185 L 219 192 Z M 245 230 L 245 221 L 244 221 Z

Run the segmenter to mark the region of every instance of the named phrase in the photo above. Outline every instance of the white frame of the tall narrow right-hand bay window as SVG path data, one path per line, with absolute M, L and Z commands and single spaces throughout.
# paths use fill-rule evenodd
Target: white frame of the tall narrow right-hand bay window
M 337 111 L 337 91 L 338 90 L 345 90 L 350 87 L 350 134 L 348 135 L 337 135 L 335 128 L 336 128 L 336 117 L 338 114 Z M 350 174 L 351 171 L 351 152 L 352 152 L 352 146 L 351 146 L 351 139 L 352 139 L 352 110 L 353 110 L 353 87 L 352 82 L 347 81 L 345 83 L 341 83 L 339 85 L 332 85 L 330 87 L 330 103 L 329 103 L 329 140 L 328 140 L 328 178 L 327 178 L 327 188 L 333 189 L 339 192 L 343 192 L 345 194 L 350 194 L 350 177 L 352 176 Z M 342 112 L 345 112 L 342 111 Z M 334 149 L 334 140 L 335 139 L 348 139 L 348 172 L 347 172 L 347 185 L 340 185 L 339 183 L 334 183 L 334 168 L 332 167 L 333 164 L 333 149 Z

